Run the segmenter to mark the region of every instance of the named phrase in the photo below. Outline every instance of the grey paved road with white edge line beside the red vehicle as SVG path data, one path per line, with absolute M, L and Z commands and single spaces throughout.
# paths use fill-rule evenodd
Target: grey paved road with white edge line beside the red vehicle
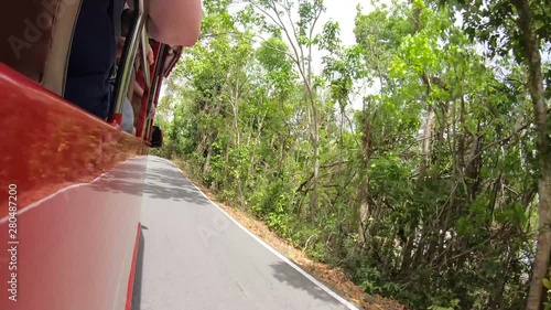
M 132 310 L 356 309 L 148 160 Z

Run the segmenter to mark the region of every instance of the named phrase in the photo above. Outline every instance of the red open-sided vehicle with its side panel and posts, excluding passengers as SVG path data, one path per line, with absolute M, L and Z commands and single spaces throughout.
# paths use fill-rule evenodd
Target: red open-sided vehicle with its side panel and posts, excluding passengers
M 19 255 L 21 265 L 28 267 L 20 270 L 18 280 L 29 284 L 25 293 L 32 296 L 17 306 L 8 306 L 11 301 L 4 298 L 1 309 L 125 309 L 127 290 L 132 291 L 144 158 L 148 148 L 162 146 L 162 132 L 153 126 L 155 106 L 163 78 L 176 64 L 182 47 L 150 40 L 143 1 L 133 1 L 138 13 L 132 17 L 118 63 L 109 117 L 100 119 L 64 98 L 82 2 L 23 0 L 0 11 L 0 127 L 4 133 L 0 149 L 6 150 L 0 157 L 0 186 L 17 184 L 21 193 L 18 216 L 24 216 L 18 221 L 28 227 L 23 238 L 29 250 Z M 145 60 L 149 46 L 154 58 L 151 65 Z M 137 87 L 142 92 L 134 92 Z M 133 107 L 133 135 L 121 129 L 125 97 Z M 7 193 L 0 193 L 6 205 Z M 61 214 L 64 221 L 58 221 Z M 100 217 L 104 220 L 94 221 Z M 8 229 L 7 207 L 0 209 L 0 218 L 4 220 L 0 222 L 2 229 Z M 64 234 L 67 237 L 62 238 Z M 0 238 L 6 244 L 3 237 L 7 234 Z M 48 244 L 62 260 L 67 259 L 60 263 L 63 270 L 48 265 L 52 252 L 35 246 L 40 244 Z M 98 250 L 101 255 L 89 255 L 90 247 L 102 248 Z M 121 263 L 108 264 L 112 260 Z M 3 263 L 0 257 L 0 265 Z M 66 265 L 73 263 L 76 265 L 67 271 Z M 88 268 L 93 265 L 96 268 Z M 77 279 L 94 278 L 96 272 L 102 272 L 101 282 L 71 288 L 63 299 L 43 293 L 61 284 L 73 286 Z M 48 285 L 37 285 L 36 278 L 47 279 Z M 8 284 L 2 282 L 3 290 Z M 86 301 L 88 293 L 94 295 L 89 290 L 109 293 L 96 293 L 99 297 L 91 304 Z

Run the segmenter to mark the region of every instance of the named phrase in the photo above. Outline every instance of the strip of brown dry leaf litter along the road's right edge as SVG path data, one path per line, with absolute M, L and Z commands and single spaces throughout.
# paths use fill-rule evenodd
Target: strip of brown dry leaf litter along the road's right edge
M 184 171 L 182 162 L 173 161 L 177 167 Z M 280 238 L 276 233 L 271 232 L 268 226 L 253 218 L 251 215 L 231 207 L 225 203 L 219 202 L 214 194 L 201 185 L 196 180 L 190 178 L 197 188 L 199 188 L 213 202 L 219 205 L 231 217 L 237 220 L 241 225 L 247 227 L 251 233 L 262 238 L 267 244 L 283 254 L 289 259 L 293 260 L 302 269 L 314 276 L 317 280 L 325 284 L 331 289 L 338 292 L 352 303 L 364 310 L 407 310 L 404 306 L 397 301 L 382 298 L 380 296 L 371 296 L 361 290 L 360 287 L 355 285 L 343 271 L 331 268 L 325 264 L 313 261 L 304 252 L 291 246 L 285 239 Z

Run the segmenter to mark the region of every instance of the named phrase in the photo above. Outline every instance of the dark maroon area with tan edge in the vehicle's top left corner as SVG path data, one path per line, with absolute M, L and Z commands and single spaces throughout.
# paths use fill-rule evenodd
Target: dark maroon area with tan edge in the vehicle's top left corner
M 63 96 L 80 0 L 10 1 L 0 11 L 0 62 Z

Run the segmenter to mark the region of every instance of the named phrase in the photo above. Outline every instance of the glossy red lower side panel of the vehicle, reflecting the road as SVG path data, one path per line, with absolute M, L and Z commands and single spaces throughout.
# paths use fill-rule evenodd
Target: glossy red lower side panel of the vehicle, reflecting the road
M 0 129 L 0 309 L 125 309 L 147 148 L 3 64 Z M 10 184 L 17 270 L 8 269 Z

